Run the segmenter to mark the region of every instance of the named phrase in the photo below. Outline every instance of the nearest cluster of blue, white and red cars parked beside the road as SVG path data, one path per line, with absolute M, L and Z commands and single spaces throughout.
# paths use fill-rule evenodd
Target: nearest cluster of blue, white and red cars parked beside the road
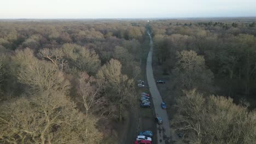
M 139 135 L 136 136 L 134 144 L 152 144 L 152 131 L 140 131 Z

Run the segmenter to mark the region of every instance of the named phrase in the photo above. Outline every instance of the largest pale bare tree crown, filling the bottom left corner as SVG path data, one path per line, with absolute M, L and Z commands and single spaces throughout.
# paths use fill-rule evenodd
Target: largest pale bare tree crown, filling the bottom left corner
M 75 109 L 66 95 L 42 92 L 0 107 L 1 143 L 101 143 L 96 119 Z

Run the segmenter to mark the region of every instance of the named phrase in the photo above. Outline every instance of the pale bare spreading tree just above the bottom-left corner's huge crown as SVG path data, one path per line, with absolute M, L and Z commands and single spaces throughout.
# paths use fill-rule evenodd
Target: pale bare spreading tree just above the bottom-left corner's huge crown
M 38 91 L 67 92 L 69 82 L 65 79 L 63 73 L 55 67 L 53 63 L 39 61 L 33 55 L 31 49 L 15 51 L 12 57 L 14 63 L 14 76 L 20 83 L 30 87 L 32 93 Z

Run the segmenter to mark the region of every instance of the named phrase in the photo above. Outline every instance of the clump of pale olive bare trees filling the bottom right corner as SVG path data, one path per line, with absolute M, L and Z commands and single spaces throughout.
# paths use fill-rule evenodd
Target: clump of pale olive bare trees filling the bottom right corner
M 235 105 L 231 98 L 204 97 L 185 91 L 177 99 L 172 126 L 188 143 L 252 143 L 256 140 L 255 111 Z

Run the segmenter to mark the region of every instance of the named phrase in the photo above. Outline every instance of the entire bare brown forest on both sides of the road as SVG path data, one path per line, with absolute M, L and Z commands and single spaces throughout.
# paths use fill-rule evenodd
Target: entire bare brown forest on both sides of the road
M 255 143 L 255 21 L 0 21 L 0 143 L 118 143 L 147 31 L 182 143 Z

